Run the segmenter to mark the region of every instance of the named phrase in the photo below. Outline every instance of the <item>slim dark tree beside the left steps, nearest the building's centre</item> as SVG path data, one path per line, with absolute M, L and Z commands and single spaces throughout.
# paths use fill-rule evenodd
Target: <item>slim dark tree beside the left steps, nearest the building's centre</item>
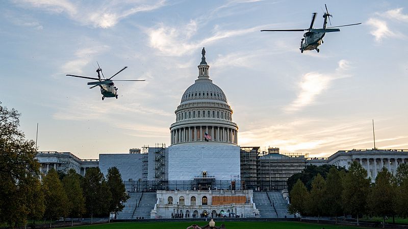
M 122 203 L 125 203 L 127 199 L 130 198 L 130 196 L 126 192 L 126 188 L 122 182 L 122 176 L 119 173 L 119 169 L 117 169 L 116 167 L 109 168 L 107 179 L 109 190 L 112 194 L 112 201 L 109 206 L 109 212 L 114 213 L 116 219 L 116 214 L 122 211 L 124 208 L 124 205 Z

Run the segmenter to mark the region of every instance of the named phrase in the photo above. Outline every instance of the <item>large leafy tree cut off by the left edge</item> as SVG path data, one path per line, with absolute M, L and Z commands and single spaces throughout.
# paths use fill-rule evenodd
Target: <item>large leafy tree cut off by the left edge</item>
M 19 117 L 17 110 L 9 110 L 0 102 L 0 221 L 11 227 L 43 211 L 43 203 L 30 199 L 41 199 L 40 164 L 35 159 L 35 142 L 25 139 L 18 129 Z

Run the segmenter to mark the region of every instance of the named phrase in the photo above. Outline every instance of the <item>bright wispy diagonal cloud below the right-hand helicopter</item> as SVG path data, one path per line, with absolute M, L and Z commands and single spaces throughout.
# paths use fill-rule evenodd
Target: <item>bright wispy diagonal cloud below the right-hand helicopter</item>
M 321 74 L 319 72 L 309 72 L 302 76 L 299 83 L 299 94 L 297 98 L 288 106 L 284 107 L 285 111 L 293 112 L 301 108 L 311 105 L 320 95 L 330 86 L 330 82 L 350 75 L 344 74 L 344 71 L 350 68 L 350 64 L 346 60 L 339 61 L 339 67 L 332 74 Z

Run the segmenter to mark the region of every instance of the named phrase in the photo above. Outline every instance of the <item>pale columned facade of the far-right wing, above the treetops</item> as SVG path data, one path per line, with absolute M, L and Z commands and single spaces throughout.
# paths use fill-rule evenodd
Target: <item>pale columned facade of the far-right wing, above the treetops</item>
M 367 170 L 367 177 L 373 180 L 377 177 L 382 167 L 386 167 L 390 173 L 395 175 L 401 163 L 408 163 L 408 158 L 405 157 L 364 157 L 355 158 L 354 160 L 358 161 Z

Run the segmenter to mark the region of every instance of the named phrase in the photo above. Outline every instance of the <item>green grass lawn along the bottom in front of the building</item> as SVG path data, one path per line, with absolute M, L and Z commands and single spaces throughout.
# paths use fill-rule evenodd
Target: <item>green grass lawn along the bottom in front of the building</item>
M 337 225 L 327 225 L 327 224 L 316 224 L 316 223 L 303 223 L 303 222 L 222 222 L 216 221 L 216 226 L 220 226 L 221 223 L 225 224 L 226 229 L 355 229 L 361 227 L 355 226 L 337 226 Z M 69 228 L 92 228 L 92 229 L 134 229 L 134 228 L 166 228 L 166 229 L 185 229 L 191 224 L 198 224 L 199 226 L 206 225 L 206 222 L 129 222 L 129 223 L 105 223 L 105 224 L 93 224 L 85 226 L 75 226 Z

